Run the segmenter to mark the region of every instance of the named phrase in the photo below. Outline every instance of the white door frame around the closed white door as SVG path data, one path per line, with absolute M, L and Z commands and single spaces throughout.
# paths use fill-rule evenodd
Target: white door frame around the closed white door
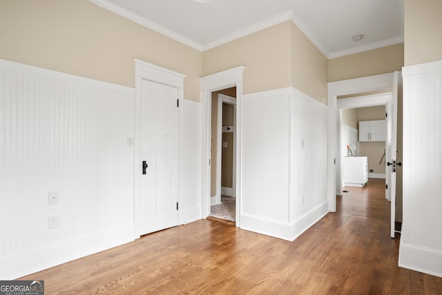
M 135 224 L 135 238 L 140 238 L 140 222 L 142 222 L 140 211 L 140 182 L 142 173 L 142 159 L 140 158 L 140 130 L 141 130 L 141 82 L 142 79 L 159 84 L 164 84 L 177 88 L 178 102 L 183 105 L 184 99 L 184 78 L 186 75 L 168 70 L 160 66 L 148 64 L 145 61 L 134 59 L 135 61 L 135 126 L 134 126 L 134 156 L 133 156 L 133 215 Z M 182 120 L 183 108 L 178 108 L 178 126 L 177 126 L 177 192 L 178 202 L 182 202 Z M 178 211 L 178 225 L 182 224 L 182 214 Z

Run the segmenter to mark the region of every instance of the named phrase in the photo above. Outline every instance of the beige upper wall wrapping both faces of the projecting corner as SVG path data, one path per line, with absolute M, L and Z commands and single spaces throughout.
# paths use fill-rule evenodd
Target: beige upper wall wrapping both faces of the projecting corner
M 291 21 L 202 53 L 203 75 L 245 66 L 243 93 L 293 86 L 327 101 L 327 58 Z

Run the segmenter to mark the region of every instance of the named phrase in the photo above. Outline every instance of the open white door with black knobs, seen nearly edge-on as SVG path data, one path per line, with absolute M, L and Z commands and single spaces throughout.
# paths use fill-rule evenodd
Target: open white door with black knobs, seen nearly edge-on
M 398 72 L 394 72 L 393 86 L 392 86 L 392 102 L 387 104 L 387 126 L 388 126 L 388 143 L 387 150 L 387 168 L 386 175 L 388 175 L 387 180 L 387 194 L 388 200 L 391 201 L 390 207 L 390 236 L 394 238 L 394 224 L 396 221 L 396 166 L 401 166 L 401 163 L 396 160 L 397 153 L 397 117 L 398 117 Z M 390 133 L 391 131 L 391 133 Z M 390 148 L 390 149 L 388 149 Z M 389 157 L 390 156 L 390 157 Z

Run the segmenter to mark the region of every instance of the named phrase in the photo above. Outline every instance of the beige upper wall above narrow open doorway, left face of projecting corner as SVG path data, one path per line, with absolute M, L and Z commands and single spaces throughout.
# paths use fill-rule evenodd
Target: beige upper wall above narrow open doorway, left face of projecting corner
M 290 86 L 290 21 L 211 48 L 202 53 L 202 73 L 245 66 L 242 93 Z

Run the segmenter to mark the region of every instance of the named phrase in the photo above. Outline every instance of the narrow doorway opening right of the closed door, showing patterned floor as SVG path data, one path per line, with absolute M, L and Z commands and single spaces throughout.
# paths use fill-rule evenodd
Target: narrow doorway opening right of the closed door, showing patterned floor
M 211 213 L 236 221 L 236 86 L 211 94 Z

